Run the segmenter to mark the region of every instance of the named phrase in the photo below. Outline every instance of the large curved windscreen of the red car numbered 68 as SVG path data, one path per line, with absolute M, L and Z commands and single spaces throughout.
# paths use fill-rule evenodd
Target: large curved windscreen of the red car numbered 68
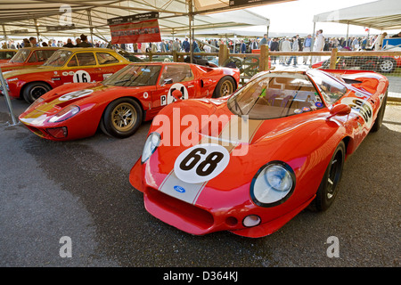
M 268 119 L 323 108 L 323 101 L 307 75 L 280 72 L 251 80 L 230 97 L 227 106 L 236 115 Z

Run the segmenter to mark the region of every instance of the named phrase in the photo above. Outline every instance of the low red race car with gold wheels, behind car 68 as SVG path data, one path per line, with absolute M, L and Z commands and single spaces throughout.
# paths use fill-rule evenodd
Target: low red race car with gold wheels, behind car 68
M 176 98 L 232 94 L 239 80 L 238 69 L 134 63 L 100 83 L 54 88 L 32 103 L 20 121 L 35 134 L 54 141 L 91 136 L 99 126 L 105 134 L 125 138 Z

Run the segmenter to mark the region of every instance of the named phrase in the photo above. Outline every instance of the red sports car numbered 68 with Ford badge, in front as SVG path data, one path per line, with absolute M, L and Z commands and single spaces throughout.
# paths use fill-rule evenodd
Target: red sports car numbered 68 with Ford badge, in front
M 381 126 L 388 86 L 373 72 L 282 70 L 175 102 L 153 119 L 130 183 L 184 232 L 266 236 L 308 205 L 331 206 L 345 159 Z

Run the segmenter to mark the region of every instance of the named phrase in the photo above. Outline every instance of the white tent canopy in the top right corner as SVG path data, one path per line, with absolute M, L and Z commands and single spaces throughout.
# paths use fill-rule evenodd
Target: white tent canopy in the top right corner
M 314 22 L 337 22 L 376 29 L 401 29 L 401 1 L 380 0 L 314 16 Z

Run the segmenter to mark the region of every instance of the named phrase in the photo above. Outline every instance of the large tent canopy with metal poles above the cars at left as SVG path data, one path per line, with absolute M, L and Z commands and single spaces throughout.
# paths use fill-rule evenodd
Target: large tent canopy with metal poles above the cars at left
M 1 0 L 0 33 L 8 37 L 73 37 L 89 34 L 92 28 L 94 34 L 104 37 L 110 36 L 107 19 L 144 12 L 159 12 L 162 36 L 187 32 L 190 14 L 194 29 L 267 27 L 268 19 L 243 8 L 287 1 L 293 0 Z M 71 24 L 70 29 L 49 28 Z

